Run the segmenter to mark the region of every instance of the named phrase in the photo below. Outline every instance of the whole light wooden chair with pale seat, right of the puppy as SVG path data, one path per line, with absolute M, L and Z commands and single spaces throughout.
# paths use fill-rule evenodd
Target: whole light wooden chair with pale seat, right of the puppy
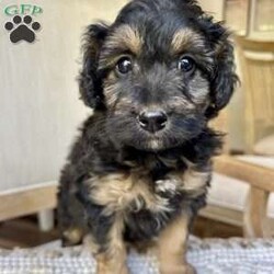
M 270 193 L 274 192 L 274 42 L 251 41 L 242 36 L 235 39 L 244 91 L 248 155 L 221 156 L 215 161 L 215 171 L 246 182 L 249 190 L 242 212 L 236 210 L 233 205 L 212 205 L 209 199 L 209 206 L 202 215 L 243 226 L 247 237 L 269 237 L 274 228 L 273 219 L 266 217 Z M 269 167 L 263 167 L 265 161 L 269 161 Z M 242 187 L 239 190 L 243 192 Z M 237 194 L 238 198 L 243 198 L 244 193 L 239 195 L 239 190 L 236 186 L 229 195 Z

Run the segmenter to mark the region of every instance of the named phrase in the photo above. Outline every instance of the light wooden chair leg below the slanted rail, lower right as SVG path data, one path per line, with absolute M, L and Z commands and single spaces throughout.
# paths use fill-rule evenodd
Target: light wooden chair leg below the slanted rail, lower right
M 243 233 L 248 238 L 270 237 L 266 207 L 270 193 L 251 186 L 243 213 Z

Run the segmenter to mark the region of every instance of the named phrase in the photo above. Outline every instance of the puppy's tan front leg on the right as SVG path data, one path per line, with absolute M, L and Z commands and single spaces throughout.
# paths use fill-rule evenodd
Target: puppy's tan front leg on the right
M 196 273 L 185 259 L 190 216 L 178 216 L 159 236 L 157 254 L 161 274 Z

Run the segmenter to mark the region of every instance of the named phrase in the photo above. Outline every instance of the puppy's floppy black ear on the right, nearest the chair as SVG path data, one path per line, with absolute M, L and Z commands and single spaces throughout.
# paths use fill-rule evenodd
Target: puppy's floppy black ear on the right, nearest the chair
M 212 106 L 209 116 L 217 115 L 225 107 L 238 82 L 235 72 L 233 46 L 229 41 L 229 33 L 220 23 L 213 23 L 210 27 L 212 42 L 214 42 L 215 68 L 212 78 Z

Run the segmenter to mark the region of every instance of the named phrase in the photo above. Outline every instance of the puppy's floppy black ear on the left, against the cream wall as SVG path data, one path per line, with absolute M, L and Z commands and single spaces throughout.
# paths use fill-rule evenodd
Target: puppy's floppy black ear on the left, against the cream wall
M 107 30 L 105 24 L 92 24 L 88 26 L 83 36 L 83 67 L 80 71 L 79 87 L 81 99 L 92 109 L 103 107 L 102 81 L 98 72 L 98 61 Z

